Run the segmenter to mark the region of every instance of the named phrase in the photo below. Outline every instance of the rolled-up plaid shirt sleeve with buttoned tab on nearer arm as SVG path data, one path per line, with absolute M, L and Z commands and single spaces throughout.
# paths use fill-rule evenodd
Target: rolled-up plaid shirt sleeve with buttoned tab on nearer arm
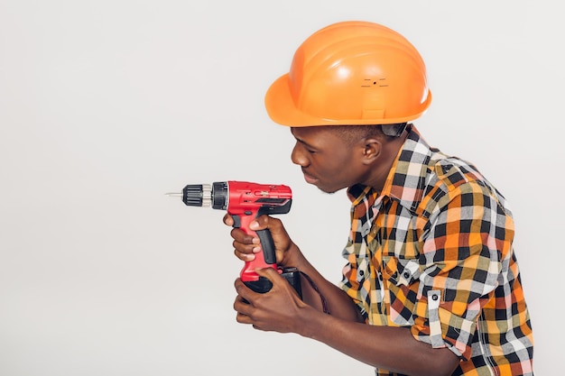
M 451 188 L 424 234 L 412 335 L 468 359 L 482 307 L 492 298 L 514 223 L 478 181 Z

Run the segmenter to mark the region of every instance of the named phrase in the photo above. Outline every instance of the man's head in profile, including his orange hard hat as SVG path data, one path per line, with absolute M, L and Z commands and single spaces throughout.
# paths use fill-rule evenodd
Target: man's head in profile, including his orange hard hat
M 292 127 L 292 161 L 325 192 L 383 188 L 405 124 L 430 103 L 418 50 L 398 32 L 358 21 L 311 34 L 265 95 L 271 119 Z

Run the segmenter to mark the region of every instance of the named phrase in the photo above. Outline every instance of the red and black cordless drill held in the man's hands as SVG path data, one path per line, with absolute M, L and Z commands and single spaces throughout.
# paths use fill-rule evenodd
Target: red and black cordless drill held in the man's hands
M 255 260 L 245 261 L 240 277 L 245 285 L 256 292 L 269 291 L 273 284 L 259 276 L 255 269 L 273 268 L 287 280 L 301 296 L 300 272 L 296 268 L 280 268 L 276 264 L 274 243 L 268 229 L 253 231 L 249 224 L 258 216 L 286 214 L 291 210 L 292 191 L 284 185 L 257 184 L 246 181 L 217 181 L 210 184 L 190 184 L 182 189 L 181 196 L 187 206 L 212 206 L 227 210 L 234 219 L 234 227 L 245 234 L 256 234 L 263 252 L 255 254 Z

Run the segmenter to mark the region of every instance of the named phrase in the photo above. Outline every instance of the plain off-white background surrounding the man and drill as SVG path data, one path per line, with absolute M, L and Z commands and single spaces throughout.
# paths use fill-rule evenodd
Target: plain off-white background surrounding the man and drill
M 551 5 L 550 5 L 551 3 Z M 555 4 L 555 5 L 553 5 Z M 338 282 L 345 192 L 292 165 L 264 92 L 301 41 L 350 19 L 403 33 L 433 102 L 415 122 L 510 201 L 538 375 L 561 369 L 561 13 L 550 1 L 0 0 L 0 375 L 371 375 L 238 325 L 224 213 L 186 184 L 292 187 L 281 216 Z

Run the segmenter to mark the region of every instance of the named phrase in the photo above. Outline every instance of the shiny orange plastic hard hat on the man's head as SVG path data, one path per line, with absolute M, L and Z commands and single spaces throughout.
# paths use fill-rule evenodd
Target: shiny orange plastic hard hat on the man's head
M 310 35 L 265 96 L 273 122 L 289 126 L 405 123 L 430 103 L 418 50 L 398 32 L 364 21 Z

